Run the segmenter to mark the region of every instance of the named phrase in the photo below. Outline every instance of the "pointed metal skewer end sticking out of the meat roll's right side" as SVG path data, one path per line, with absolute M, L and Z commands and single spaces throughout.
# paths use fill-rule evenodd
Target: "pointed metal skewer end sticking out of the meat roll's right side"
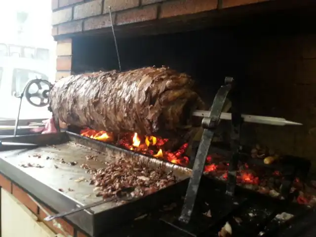
M 197 110 L 193 113 L 193 116 L 208 118 L 210 116 L 210 112 L 204 111 L 204 110 Z M 244 122 L 254 122 L 254 123 L 262 123 L 262 124 L 277 125 L 277 126 L 303 125 L 302 123 L 299 123 L 299 122 L 288 121 L 285 118 L 275 118 L 275 117 L 256 116 L 256 115 L 241 115 L 241 118 L 243 118 Z M 220 119 L 232 120 L 232 114 L 222 113 L 220 116 Z

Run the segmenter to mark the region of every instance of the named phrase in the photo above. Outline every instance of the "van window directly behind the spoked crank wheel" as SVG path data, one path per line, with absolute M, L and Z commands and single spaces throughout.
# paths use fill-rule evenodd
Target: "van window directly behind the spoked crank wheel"
M 48 77 L 44 74 L 26 70 L 26 69 L 14 69 L 13 71 L 13 80 L 12 80 L 12 94 L 14 92 L 21 94 L 23 92 L 24 87 L 26 86 L 26 83 L 31 79 L 44 79 L 48 80 Z M 30 88 L 31 93 L 37 92 L 37 86 L 33 85 Z

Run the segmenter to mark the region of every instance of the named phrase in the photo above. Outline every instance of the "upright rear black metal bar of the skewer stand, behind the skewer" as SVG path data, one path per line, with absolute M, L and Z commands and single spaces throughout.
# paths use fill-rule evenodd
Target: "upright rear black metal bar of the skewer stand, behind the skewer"
M 233 196 L 235 194 L 235 188 L 237 183 L 237 170 L 239 161 L 239 147 L 240 147 L 240 129 L 241 129 L 241 112 L 240 112 L 240 100 L 239 91 L 236 86 L 230 93 L 230 99 L 232 101 L 232 131 L 231 131 L 231 149 L 232 155 L 228 166 L 227 174 L 227 186 L 226 194 Z

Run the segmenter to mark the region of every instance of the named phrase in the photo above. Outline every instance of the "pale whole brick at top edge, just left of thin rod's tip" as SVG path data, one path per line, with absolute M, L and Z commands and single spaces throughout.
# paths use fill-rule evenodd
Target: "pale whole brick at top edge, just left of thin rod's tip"
M 89 16 L 97 16 L 102 12 L 102 0 L 89 1 L 74 7 L 74 19 L 79 20 Z

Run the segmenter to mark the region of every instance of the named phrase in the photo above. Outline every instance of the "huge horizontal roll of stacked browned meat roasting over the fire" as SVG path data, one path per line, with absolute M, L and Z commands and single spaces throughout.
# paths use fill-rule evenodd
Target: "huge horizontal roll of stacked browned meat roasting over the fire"
M 185 137 L 198 119 L 193 112 L 204 109 L 192 88 L 188 75 L 167 67 L 95 72 L 58 80 L 49 103 L 67 124 L 117 134 Z

